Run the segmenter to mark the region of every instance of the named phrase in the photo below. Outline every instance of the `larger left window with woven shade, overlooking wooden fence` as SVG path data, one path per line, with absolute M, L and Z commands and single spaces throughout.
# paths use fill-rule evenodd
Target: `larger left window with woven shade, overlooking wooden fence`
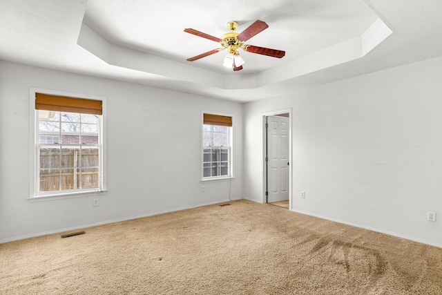
M 102 191 L 102 101 L 35 93 L 35 197 Z

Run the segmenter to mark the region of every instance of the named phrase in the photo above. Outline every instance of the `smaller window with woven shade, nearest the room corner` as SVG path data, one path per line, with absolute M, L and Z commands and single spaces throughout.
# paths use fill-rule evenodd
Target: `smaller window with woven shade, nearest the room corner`
M 232 117 L 203 114 L 202 178 L 231 177 Z

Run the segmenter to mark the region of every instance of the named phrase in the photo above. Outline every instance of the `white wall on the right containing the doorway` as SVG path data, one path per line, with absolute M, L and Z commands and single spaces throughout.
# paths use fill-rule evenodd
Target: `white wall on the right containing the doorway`
M 262 113 L 292 108 L 294 211 L 442 247 L 441 81 L 438 57 L 245 104 L 244 198 L 262 202 Z

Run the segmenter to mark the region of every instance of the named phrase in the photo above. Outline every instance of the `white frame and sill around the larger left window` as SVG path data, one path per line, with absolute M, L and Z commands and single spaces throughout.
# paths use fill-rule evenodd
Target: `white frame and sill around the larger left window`
M 101 136 L 99 142 L 99 149 L 101 151 L 99 162 L 100 166 L 100 178 L 101 188 L 95 189 L 77 189 L 75 191 L 38 191 L 39 185 L 39 117 L 38 110 L 35 109 L 35 95 L 36 93 L 44 93 L 46 95 L 59 95 L 64 97 L 84 98 L 102 101 L 102 117 L 101 128 L 99 135 Z M 68 93 L 65 91 L 54 91 L 43 88 L 30 88 L 30 107 L 29 107 L 30 129 L 29 129 L 29 197 L 28 200 L 58 200 L 61 198 L 75 198 L 83 196 L 96 196 L 106 193 L 106 97 L 100 97 L 96 95 L 86 95 L 82 93 Z

